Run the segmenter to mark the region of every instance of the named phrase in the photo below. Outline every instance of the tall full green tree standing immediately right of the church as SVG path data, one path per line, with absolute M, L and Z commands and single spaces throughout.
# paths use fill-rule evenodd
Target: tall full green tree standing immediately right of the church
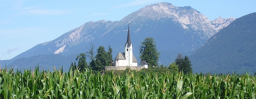
M 158 66 L 158 58 L 160 53 L 157 52 L 154 38 L 145 38 L 140 45 L 140 59 L 148 63 L 148 67 Z

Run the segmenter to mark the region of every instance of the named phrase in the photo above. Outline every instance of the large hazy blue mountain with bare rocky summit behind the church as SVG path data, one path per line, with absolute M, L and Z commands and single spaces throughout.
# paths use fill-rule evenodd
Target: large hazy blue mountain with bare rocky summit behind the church
M 66 62 L 75 61 L 75 56 L 88 51 L 90 44 L 94 44 L 95 55 L 99 46 L 104 46 L 105 50 L 107 50 L 110 45 L 113 48 L 113 57 L 115 57 L 118 52 L 124 52 L 128 23 L 130 24 L 133 54 L 137 60 L 140 61 L 139 45 L 141 45 L 141 42 L 146 37 L 153 37 L 160 52 L 159 63 L 167 66 L 174 61 L 179 53 L 184 55 L 192 54 L 212 35 L 216 34 L 218 29 L 226 27 L 228 22 L 230 23 L 232 20 L 212 23 L 207 17 L 190 6 L 176 7 L 171 3 L 147 5 L 120 21 L 100 20 L 86 22 L 52 41 L 38 44 L 17 55 L 11 60 L 13 63 L 9 64 L 9 66 L 24 67 L 23 65 L 26 65 L 33 67 L 37 64 L 34 64 L 34 61 L 29 64 L 29 61 L 33 60 L 32 57 L 43 55 L 45 59 L 55 62 L 37 58 L 39 65 L 55 64 L 69 67 L 70 64 Z M 66 59 L 58 59 L 58 57 L 66 57 L 66 59 L 73 60 L 68 61 Z M 21 59 L 27 61 L 23 62 L 28 64 L 18 64 L 17 62 Z M 1 62 L 1 64 L 4 63 Z

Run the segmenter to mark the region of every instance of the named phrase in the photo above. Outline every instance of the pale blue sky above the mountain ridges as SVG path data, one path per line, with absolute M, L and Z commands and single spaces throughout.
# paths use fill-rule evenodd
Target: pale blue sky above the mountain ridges
M 256 0 L 0 0 L 0 60 L 12 59 L 86 22 L 118 21 L 158 2 L 191 6 L 210 20 L 256 12 Z

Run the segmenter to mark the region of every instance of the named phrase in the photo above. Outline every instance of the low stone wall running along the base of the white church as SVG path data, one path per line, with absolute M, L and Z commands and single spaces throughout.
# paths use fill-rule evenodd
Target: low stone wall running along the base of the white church
M 105 66 L 103 70 L 125 70 L 126 68 L 130 68 L 132 70 L 140 70 L 145 68 L 143 66 Z

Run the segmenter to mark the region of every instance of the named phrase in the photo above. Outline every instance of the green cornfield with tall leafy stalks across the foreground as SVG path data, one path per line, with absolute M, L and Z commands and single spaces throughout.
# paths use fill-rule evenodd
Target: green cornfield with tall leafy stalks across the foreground
M 1 99 L 255 99 L 255 76 L 0 69 Z

